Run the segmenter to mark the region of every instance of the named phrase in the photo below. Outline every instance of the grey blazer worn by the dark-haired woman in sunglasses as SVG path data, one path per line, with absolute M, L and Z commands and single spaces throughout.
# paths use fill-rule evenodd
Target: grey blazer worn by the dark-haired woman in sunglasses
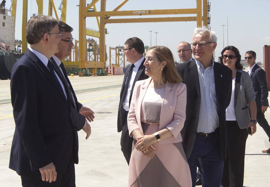
M 239 81 L 239 77 L 240 81 Z M 255 101 L 253 83 L 249 74 L 243 70 L 237 70 L 234 88 L 234 106 L 236 121 L 240 129 L 247 128 L 250 122 L 247 103 Z

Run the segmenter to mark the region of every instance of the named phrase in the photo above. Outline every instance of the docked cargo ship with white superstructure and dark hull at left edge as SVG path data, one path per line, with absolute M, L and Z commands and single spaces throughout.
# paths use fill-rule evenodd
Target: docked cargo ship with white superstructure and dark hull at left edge
M 21 41 L 15 40 L 15 18 L 0 4 L 0 79 L 10 79 L 13 65 L 22 56 Z

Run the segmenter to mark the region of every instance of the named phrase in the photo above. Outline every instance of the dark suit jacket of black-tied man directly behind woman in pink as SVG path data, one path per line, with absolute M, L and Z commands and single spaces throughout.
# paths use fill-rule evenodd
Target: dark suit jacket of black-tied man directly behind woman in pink
M 145 74 L 145 66 L 143 65 L 145 59 L 143 60 L 143 62 L 141 63 L 138 71 L 137 71 L 137 74 L 135 76 L 135 79 L 134 79 L 134 82 L 132 84 L 132 88 L 131 88 L 131 93 L 130 93 L 130 98 L 129 98 L 129 105 L 130 105 L 130 102 L 131 102 L 131 97 L 132 97 L 132 93 L 133 93 L 133 89 L 134 89 L 134 85 L 135 83 L 138 81 L 138 80 L 144 80 L 144 79 L 147 79 L 148 76 Z M 124 92 L 124 89 L 125 89 L 125 83 L 126 83 L 126 80 L 128 78 L 128 72 L 131 68 L 131 65 L 128 64 L 128 66 L 126 67 L 125 69 L 125 76 L 124 76 L 124 80 L 123 80 L 123 83 L 122 83 L 122 88 L 121 88 L 121 92 L 120 92 L 120 102 L 119 102 L 119 107 L 118 107 L 118 116 L 117 116 L 117 132 L 121 132 L 122 131 L 122 127 L 124 125 L 124 121 L 126 120 L 123 120 L 124 118 L 127 118 L 127 114 L 122 114 L 122 108 L 123 108 L 123 102 L 125 100 L 125 96 L 126 94 L 123 93 Z

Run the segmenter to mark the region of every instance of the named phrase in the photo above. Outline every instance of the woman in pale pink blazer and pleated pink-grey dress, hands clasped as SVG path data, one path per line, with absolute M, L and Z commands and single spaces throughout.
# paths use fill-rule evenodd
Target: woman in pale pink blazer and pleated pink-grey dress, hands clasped
M 186 85 L 167 47 L 151 47 L 146 80 L 134 86 L 128 130 L 134 138 L 128 186 L 191 187 L 180 131 L 186 118 Z

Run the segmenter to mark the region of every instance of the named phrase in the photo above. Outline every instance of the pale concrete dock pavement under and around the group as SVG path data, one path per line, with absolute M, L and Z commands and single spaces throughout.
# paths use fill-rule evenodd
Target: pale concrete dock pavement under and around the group
M 124 187 L 128 182 L 128 165 L 120 148 L 121 133 L 117 133 L 117 110 L 123 76 L 70 77 L 78 100 L 90 107 L 95 120 L 90 123 L 91 136 L 79 135 L 77 187 Z M 0 186 L 21 186 L 20 177 L 8 168 L 10 148 L 15 128 L 10 103 L 10 80 L 0 80 Z M 270 99 L 270 98 L 268 98 Z M 266 112 L 270 121 L 270 112 Z M 244 186 L 270 186 L 270 147 L 268 137 L 257 125 L 257 132 L 248 137 L 245 156 Z

